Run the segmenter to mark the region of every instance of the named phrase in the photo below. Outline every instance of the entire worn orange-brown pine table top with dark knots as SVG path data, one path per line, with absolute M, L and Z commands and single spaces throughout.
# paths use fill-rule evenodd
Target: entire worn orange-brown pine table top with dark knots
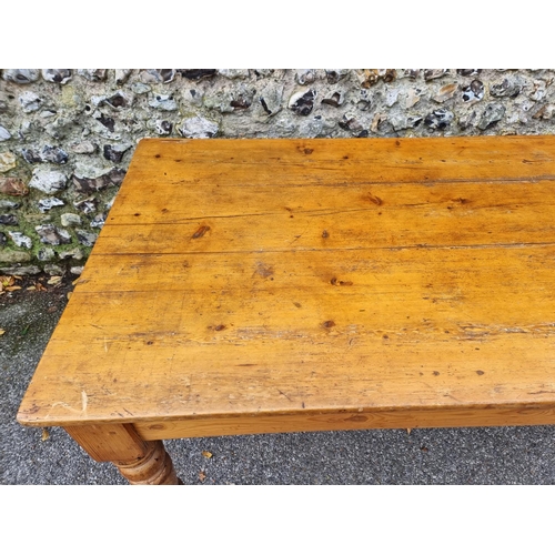
M 554 137 L 145 139 L 18 420 L 555 423 L 554 193 Z

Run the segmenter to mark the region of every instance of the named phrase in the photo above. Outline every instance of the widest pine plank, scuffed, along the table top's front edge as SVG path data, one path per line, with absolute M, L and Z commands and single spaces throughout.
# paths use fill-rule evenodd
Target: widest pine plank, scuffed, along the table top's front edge
M 382 254 L 336 272 L 325 253 L 290 253 L 299 271 L 284 273 L 266 253 L 272 275 L 254 256 L 198 254 L 183 280 L 168 256 L 97 265 L 111 282 L 92 265 L 30 387 L 47 406 L 24 417 L 555 402 L 554 248 Z M 48 403 L 54 391 L 67 401 Z

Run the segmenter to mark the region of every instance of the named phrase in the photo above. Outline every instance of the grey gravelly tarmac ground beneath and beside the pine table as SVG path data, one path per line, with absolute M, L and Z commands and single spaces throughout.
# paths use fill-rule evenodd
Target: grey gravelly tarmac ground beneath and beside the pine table
M 0 296 L 0 484 L 124 484 L 61 428 L 26 428 L 19 403 L 71 283 Z M 46 438 L 48 435 L 48 438 Z M 555 426 L 371 430 L 165 442 L 184 484 L 555 484 Z M 212 453 L 206 458 L 202 452 Z

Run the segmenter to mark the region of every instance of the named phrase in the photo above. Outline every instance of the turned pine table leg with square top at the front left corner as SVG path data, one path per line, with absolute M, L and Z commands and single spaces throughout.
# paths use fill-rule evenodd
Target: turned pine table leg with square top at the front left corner
M 130 484 L 181 483 L 163 443 L 141 440 L 132 424 L 93 424 L 64 430 L 94 461 L 113 463 Z

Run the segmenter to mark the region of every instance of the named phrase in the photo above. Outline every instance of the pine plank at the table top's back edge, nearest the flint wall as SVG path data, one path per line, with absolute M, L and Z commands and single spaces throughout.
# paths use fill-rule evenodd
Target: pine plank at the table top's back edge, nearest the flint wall
M 555 179 L 546 137 L 408 139 L 143 139 L 129 181 L 320 184 Z

